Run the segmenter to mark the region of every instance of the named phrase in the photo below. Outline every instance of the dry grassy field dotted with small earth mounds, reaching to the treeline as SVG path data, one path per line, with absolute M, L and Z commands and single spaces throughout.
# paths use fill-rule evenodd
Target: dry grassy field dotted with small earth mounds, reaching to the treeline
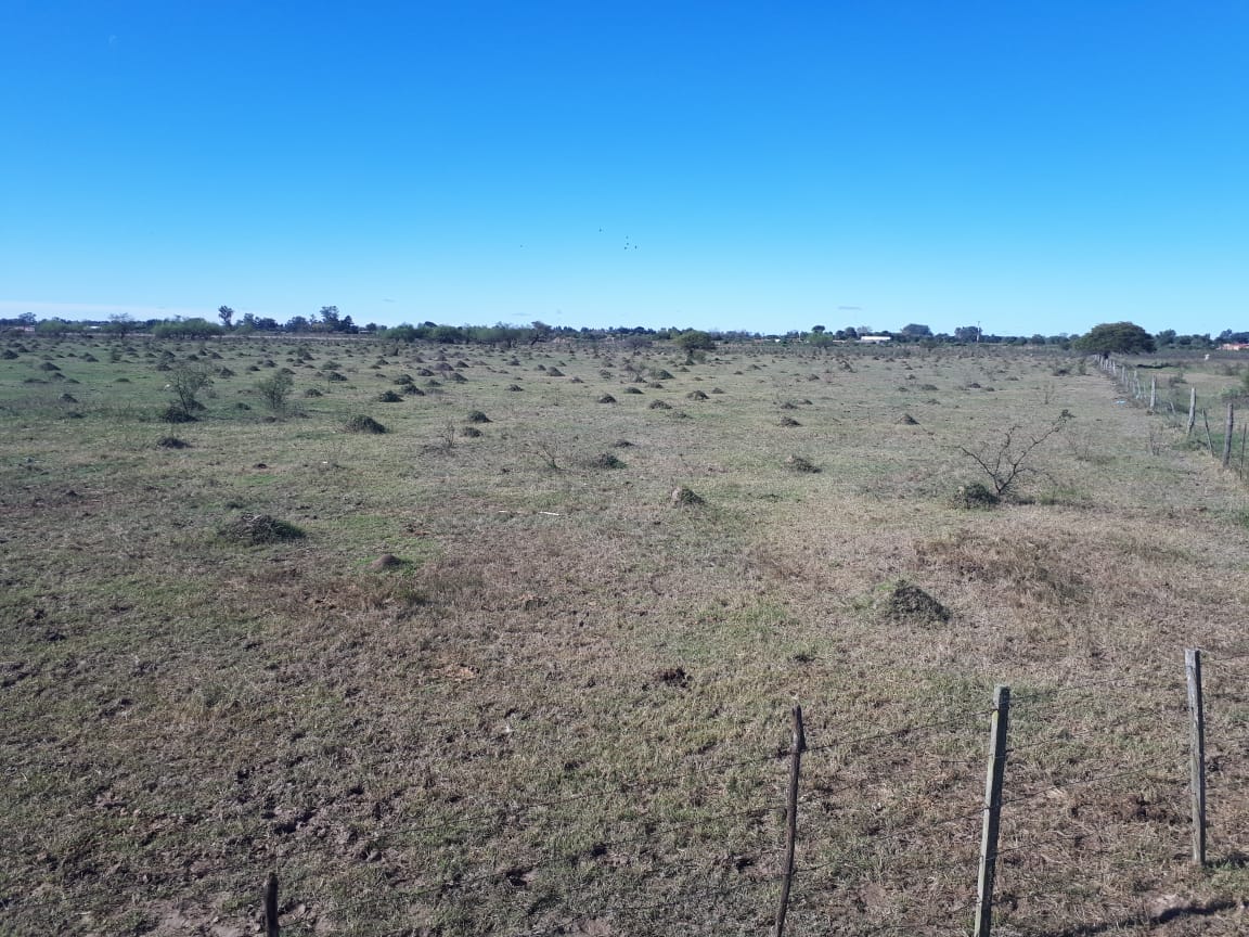
M 1093 364 L 29 335 L 0 359 L 0 932 L 237 937 L 276 870 L 284 935 L 766 933 L 801 703 L 787 932 L 963 933 L 997 683 L 999 933 L 1247 927 L 1245 488 Z M 1218 432 L 1238 367 L 1149 374 Z M 969 452 L 1054 427 L 1015 497 L 967 506 L 992 483 Z

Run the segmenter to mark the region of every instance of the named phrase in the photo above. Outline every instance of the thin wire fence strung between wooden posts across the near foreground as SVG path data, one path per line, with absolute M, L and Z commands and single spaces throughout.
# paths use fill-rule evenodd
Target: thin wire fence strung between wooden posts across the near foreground
M 1237 863 L 1249 850 L 1249 653 L 1204 661 L 1204 832 L 1210 862 Z M 1173 671 L 1019 687 L 990 883 L 1010 933 L 1054 933 L 1064 916 L 1147 927 L 1159 912 L 1142 896 L 1192 870 L 1190 713 Z M 1139 708 L 1174 718 L 1142 720 Z M 0 912 L 39 905 L 52 920 L 104 885 L 136 907 L 194 906 L 216 876 L 246 875 L 255 890 L 234 912 L 245 923 L 260 920 L 274 871 L 281 891 L 266 923 L 287 935 L 761 935 L 776 927 L 788 878 L 788 935 L 969 933 L 993 713 L 808 728 L 793 817 L 794 752 L 773 750 L 437 822 L 388 817 L 350 842 L 292 833 L 220 861 L 100 870 L 60 892 L 6 887 Z

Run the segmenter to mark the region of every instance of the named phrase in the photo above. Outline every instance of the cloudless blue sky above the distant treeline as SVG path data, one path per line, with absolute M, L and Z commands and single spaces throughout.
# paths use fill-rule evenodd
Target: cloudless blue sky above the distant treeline
M 0 0 L 0 315 L 1249 330 L 1249 2 Z

